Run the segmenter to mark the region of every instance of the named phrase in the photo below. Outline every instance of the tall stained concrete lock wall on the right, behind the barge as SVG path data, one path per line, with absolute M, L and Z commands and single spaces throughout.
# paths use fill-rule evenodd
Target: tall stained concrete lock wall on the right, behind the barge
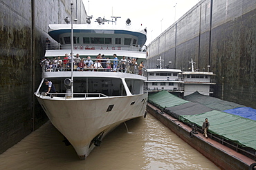
M 201 1 L 148 45 L 147 67 L 216 74 L 214 96 L 256 108 L 256 1 Z

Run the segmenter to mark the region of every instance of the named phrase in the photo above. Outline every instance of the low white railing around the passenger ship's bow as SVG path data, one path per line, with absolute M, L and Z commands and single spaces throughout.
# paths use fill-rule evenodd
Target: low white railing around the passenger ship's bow
M 102 93 L 48 93 L 46 92 L 39 92 L 39 97 L 46 97 L 48 96 L 49 98 L 54 98 L 54 97 L 59 97 L 59 98 L 109 98 L 109 96 L 102 94 Z

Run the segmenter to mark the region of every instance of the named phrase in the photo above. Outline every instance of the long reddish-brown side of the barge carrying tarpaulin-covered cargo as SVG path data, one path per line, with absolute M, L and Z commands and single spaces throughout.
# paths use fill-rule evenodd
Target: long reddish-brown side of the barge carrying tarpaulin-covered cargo
M 168 127 L 173 131 L 177 136 L 187 142 L 194 149 L 203 154 L 206 158 L 214 162 L 221 169 L 233 170 L 233 169 L 249 169 L 250 164 L 255 163 L 254 160 L 241 155 L 226 146 L 221 145 L 219 142 L 211 140 L 210 138 L 206 139 L 202 134 L 192 134 L 191 127 L 181 123 L 176 118 L 165 114 L 154 105 L 147 103 L 147 113 L 152 114 L 157 118 L 163 125 Z

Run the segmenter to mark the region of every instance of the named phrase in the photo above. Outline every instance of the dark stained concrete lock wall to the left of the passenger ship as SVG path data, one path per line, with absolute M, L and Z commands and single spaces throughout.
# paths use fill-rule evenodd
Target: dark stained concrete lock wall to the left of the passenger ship
M 73 17 L 85 23 L 82 0 L 0 1 L 0 153 L 48 120 L 33 95 L 41 81 L 39 59 L 48 24 L 65 23 L 70 3 Z

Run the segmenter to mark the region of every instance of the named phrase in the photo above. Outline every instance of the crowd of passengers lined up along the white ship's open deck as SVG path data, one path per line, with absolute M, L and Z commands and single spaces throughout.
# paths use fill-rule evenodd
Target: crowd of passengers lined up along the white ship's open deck
M 43 67 L 44 72 L 62 72 L 70 71 L 72 66 L 73 55 L 65 54 L 64 58 L 60 56 L 53 57 L 53 59 L 42 59 L 40 65 Z M 86 59 L 80 58 L 79 54 L 73 56 L 73 70 L 74 71 L 102 71 L 102 72 L 127 72 L 131 74 L 143 74 L 143 61 L 138 65 L 136 59 L 122 56 L 120 61 L 116 54 L 113 54 L 113 59 L 105 58 L 104 54 L 98 54 L 96 59 L 91 59 L 87 56 Z

